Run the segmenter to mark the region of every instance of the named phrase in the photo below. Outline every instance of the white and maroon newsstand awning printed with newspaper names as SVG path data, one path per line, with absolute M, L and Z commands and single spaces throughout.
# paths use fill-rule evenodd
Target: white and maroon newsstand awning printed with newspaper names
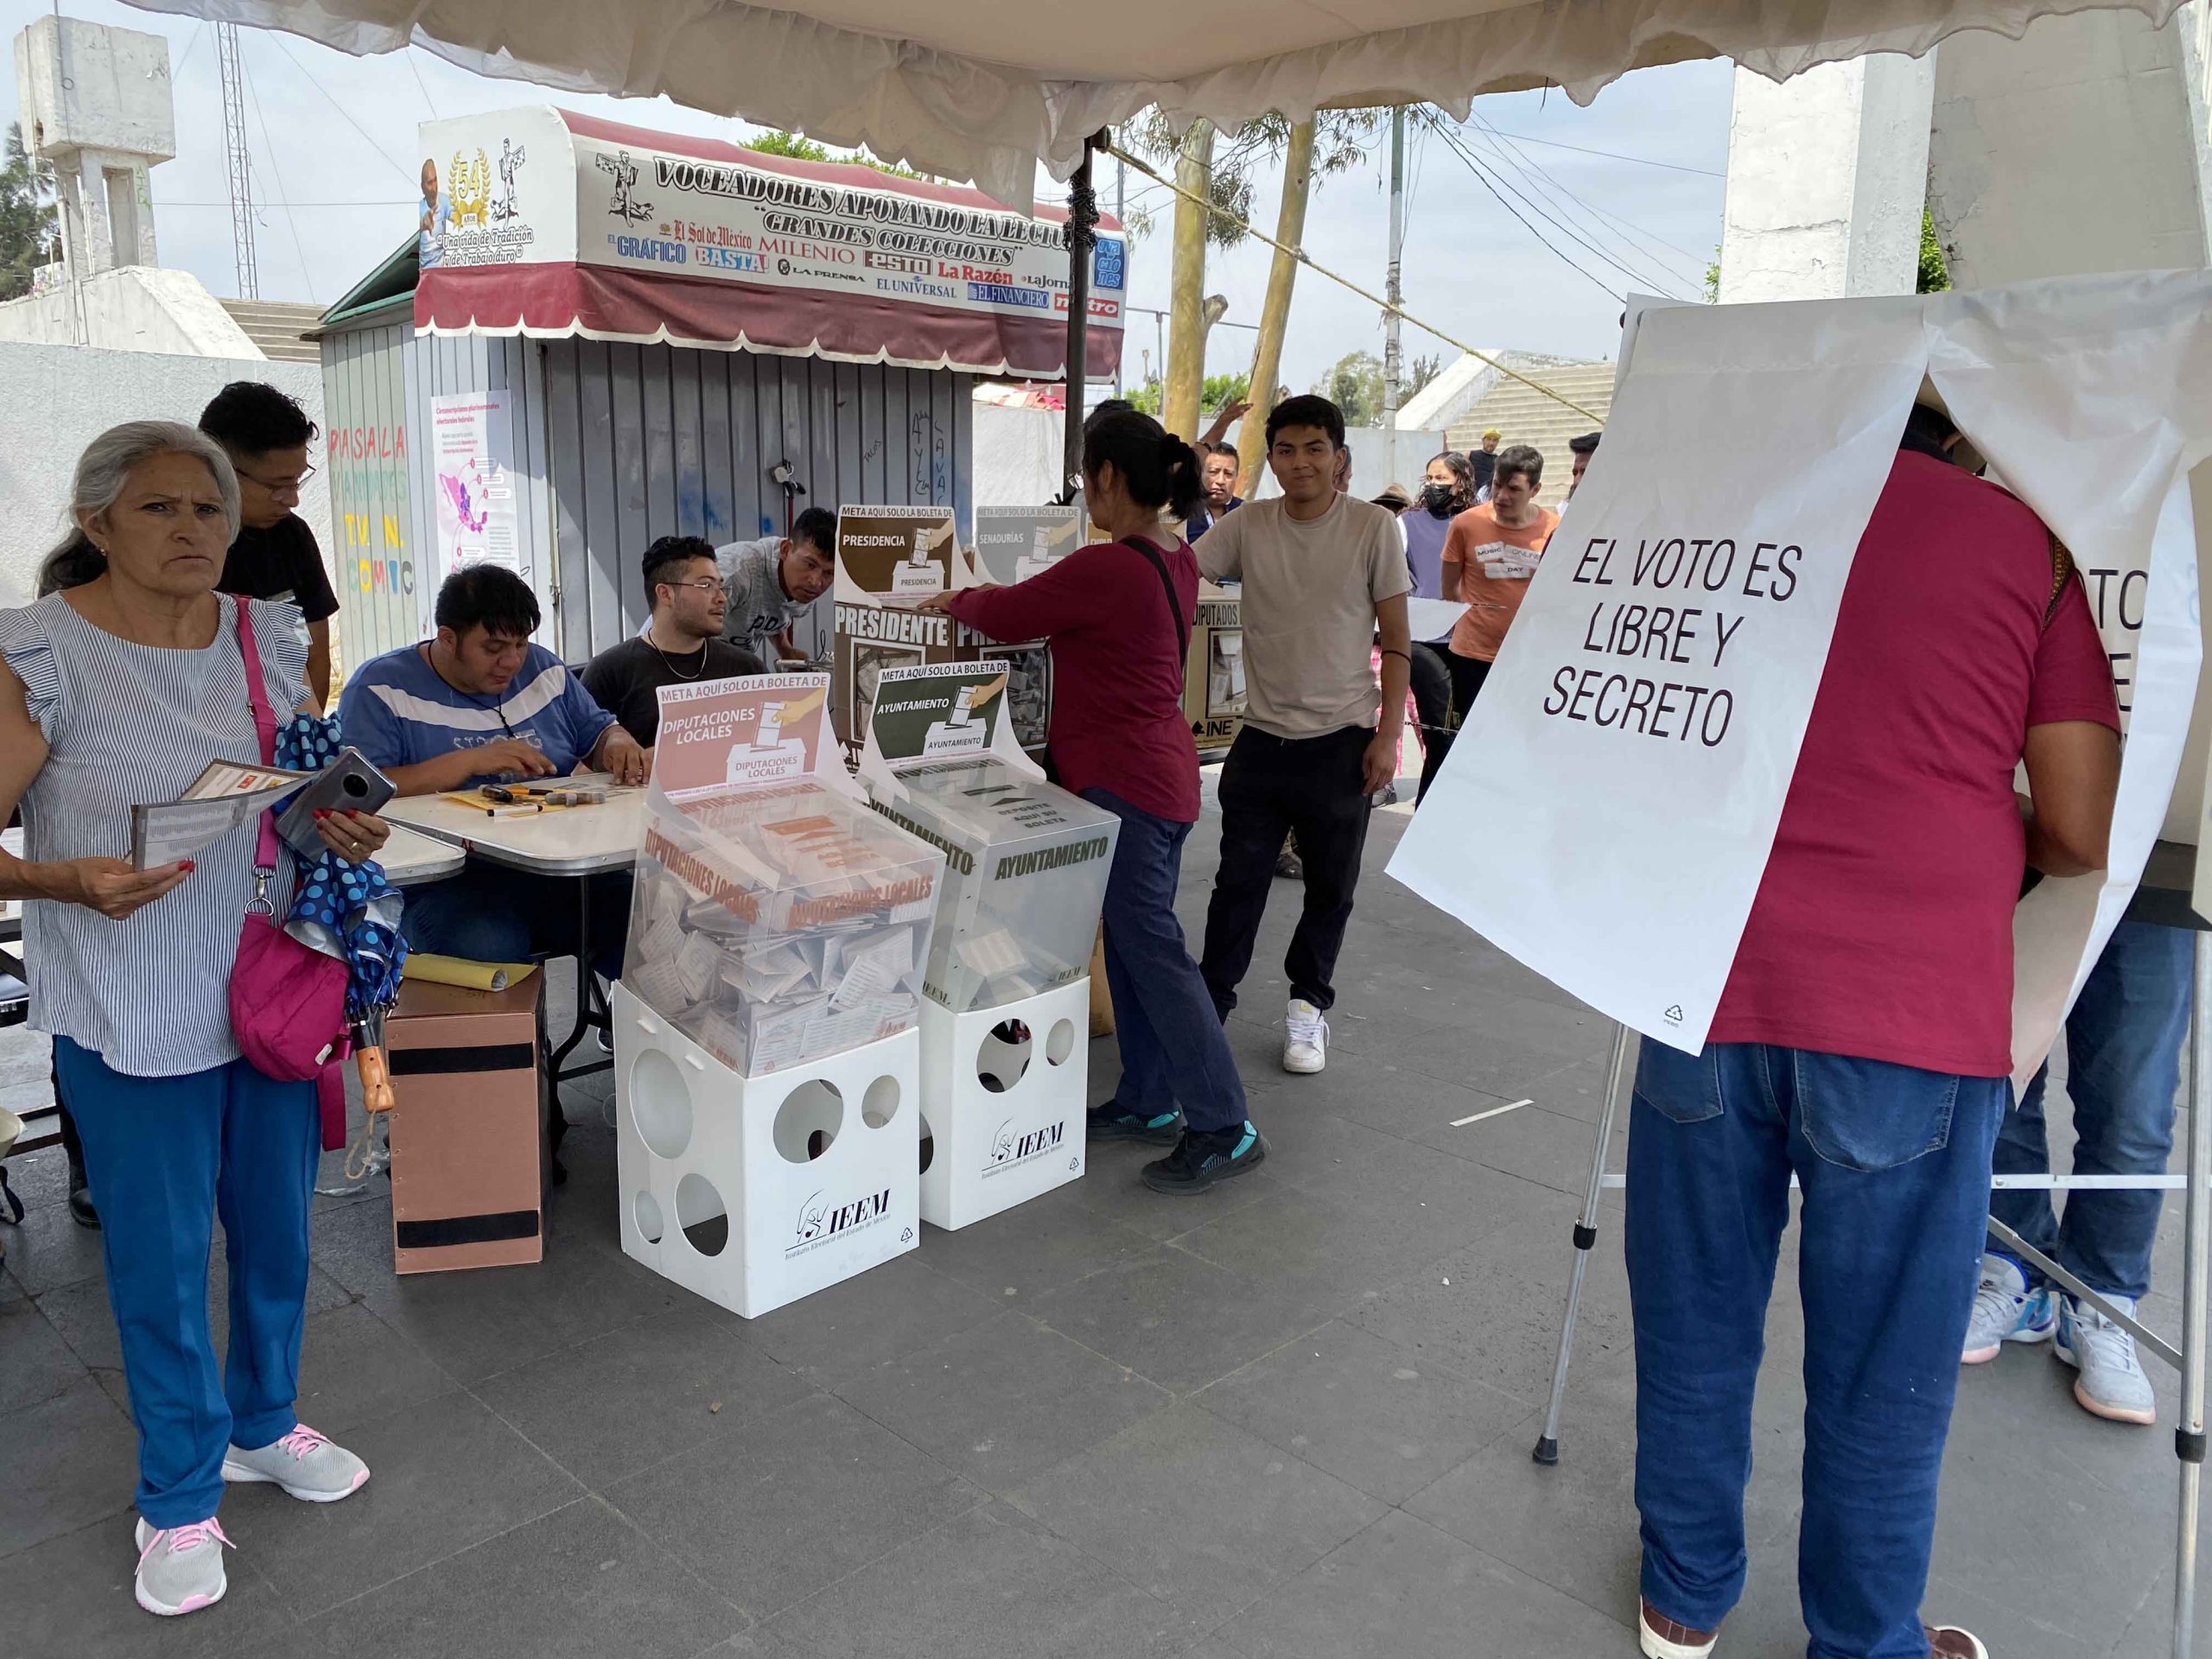
M 1066 372 L 1064 212 L 555 108 L 422 124 L 416 327 Z M 1099 228 L 1093 376 L 1121 356 Z

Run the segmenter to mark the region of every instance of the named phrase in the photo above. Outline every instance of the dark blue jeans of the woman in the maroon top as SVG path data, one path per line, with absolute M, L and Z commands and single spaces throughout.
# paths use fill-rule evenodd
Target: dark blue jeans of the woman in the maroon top
M 1155 818 L 1110 790 L 1082 794 L 1121 821 L 1102 918 L 1106 989 L 1121 1040 L 1115 1104 L 1139 1117 L 1164 1117 L 1179 1102 L 1194 1130 L 1239 1128 L 1245 1097 L 1237 1057 L 1175 916 L 1190 825 Z

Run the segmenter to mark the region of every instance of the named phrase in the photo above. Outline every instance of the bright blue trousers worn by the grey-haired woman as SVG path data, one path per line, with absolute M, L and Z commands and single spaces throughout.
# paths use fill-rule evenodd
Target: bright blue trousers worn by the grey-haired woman
M 190 1526 L 223 1495 L 223 1449 L 299 1427 L 307 1323 L 307 1201 L 323 1155 L 314 1084 L 276 1084 L 243 1060 L 184 1077 L 126 1077 L 53 1040 L 139 1431 L 139 1515 Z M 208 1332 L 208 1250 L 223 1217 L 230 1354 Z

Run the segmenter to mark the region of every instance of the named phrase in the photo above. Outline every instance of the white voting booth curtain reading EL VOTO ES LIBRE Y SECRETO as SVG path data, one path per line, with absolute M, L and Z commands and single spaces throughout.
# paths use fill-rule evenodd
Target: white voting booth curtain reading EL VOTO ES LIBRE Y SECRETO
M 1927 367 L 1911 301 L 1807 312 L 1646 314 L 1606 442 L 1389 865 L 1692 1053 Z

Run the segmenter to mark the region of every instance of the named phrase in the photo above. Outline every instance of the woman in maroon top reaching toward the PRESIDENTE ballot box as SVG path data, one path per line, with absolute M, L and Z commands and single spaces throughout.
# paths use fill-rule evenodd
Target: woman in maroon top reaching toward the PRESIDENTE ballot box
M 1093 418 L 1084 500 L 1113 542 L 1011 588 L 967 588 L 927 608 L 993 639 L 1051 641 L 1053 770 L 1121 818 L 1104 911 L 1121 1084 L 1091 1110 L 1088 1135 L 1172 1146 L 1144 1168 L 1144 1183 L 1203 1192 L 1254 1168 L 1267 1141 L 1245 1115 L 1237 1060 L 1175 918 L 1183 841 L 1199 818 L 1199 750 L 1183 721 L 1199 564 L 1161 518 L 1190 515 L 1199 458 L 1133 409 Z

